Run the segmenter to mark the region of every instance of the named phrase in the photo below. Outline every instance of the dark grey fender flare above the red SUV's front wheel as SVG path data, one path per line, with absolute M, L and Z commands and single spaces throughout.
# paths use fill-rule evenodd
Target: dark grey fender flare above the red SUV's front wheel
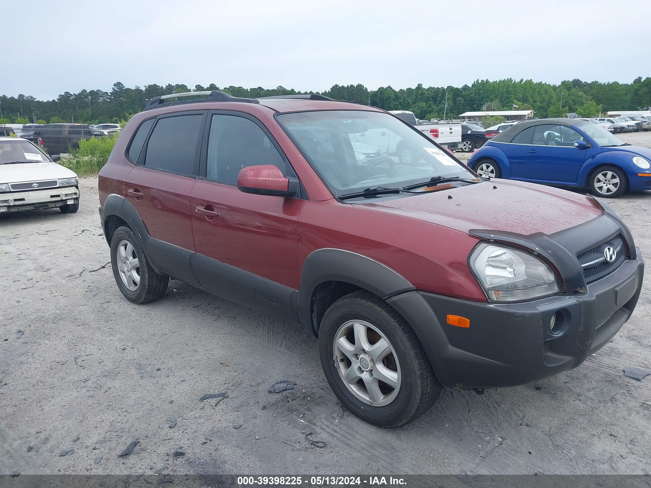
M 317 330 L 312 320 L 312 294 L 318 285 L 327 281 L 350 283 L 381 299 L 415 290 L 400 273 L 372 258 L 344 249 L 317 249 L 303 262 L 296 303 L 299 323 L 312 335 Z

